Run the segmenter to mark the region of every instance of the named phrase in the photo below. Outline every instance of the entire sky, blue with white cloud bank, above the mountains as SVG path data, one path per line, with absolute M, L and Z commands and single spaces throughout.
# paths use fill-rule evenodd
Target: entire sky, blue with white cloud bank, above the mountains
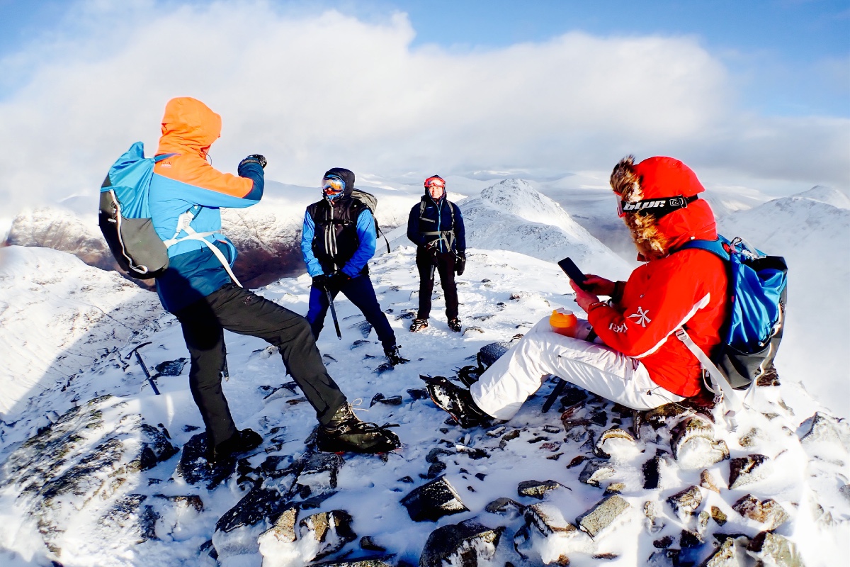
M 634 154 L 847 190 L 850 0 L 0 0 L 0 202 L 96 190 L 174 96 L 224 117 L 217 167 L 305 186 L 332 162 L 604 189 Z

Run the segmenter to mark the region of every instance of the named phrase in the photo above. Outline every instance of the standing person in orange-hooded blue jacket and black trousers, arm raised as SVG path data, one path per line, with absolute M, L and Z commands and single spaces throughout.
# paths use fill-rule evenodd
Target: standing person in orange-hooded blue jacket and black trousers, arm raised
M 215 466 L 263 442 L 236 428 L 222 391 L 224 329 L 275 345 L 286 370 L 316 411 L 319 451 L 391 451 L 399 438 L 354 417 L 328 375 L 310 327 L 301 315 L 243 289 L 230 269 L 233 244 L 221 231 L 221 207 L 251 207 L 263 197 L 263 156 L 246 157 L 239 175 L 221 173 L 207 151 L 221 133 L 221 116 L 200 100 L 166 105 L 150 181 L 150 217 L 168 246 L 168 268 L 156 280 L 162 306 L 177 316 L 189 349 L 189 386 L 207 428 L 207 461 Z

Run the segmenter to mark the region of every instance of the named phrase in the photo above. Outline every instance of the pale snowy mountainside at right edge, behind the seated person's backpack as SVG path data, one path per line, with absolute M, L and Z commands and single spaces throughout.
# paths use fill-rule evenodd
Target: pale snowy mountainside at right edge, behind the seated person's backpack
M 777 367 L 835 415 L 850 417 L 850 198 L 815 187 L 732 213 L 718 227 L 785 257 L 788 322 Z

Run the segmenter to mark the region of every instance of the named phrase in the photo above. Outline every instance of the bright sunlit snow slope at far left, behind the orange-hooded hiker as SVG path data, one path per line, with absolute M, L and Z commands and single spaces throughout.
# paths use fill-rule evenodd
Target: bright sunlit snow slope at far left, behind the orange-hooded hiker
M 156 293 L 65 252 L 0 248 L 0 417 L 123 348 L 161 314 Z

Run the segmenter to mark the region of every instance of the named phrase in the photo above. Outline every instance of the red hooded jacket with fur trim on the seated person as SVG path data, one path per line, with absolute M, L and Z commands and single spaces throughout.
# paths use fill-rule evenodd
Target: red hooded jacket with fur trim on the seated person
M 687 166 L 669 157 L 644 160 L 631 173 L 635 177 L 629 181 L 637 184 L 621 193 L 624 201 L 695 196 L 703 190 Z M 612 174 L 617 190 L 614 178 Z M 714 214 L 706 201 L 697 199 L 661 218 L 641 218 L 652 225 L 649 230 L 636 228 L 627 219 L 632 235 L 646 236 L 663 252 L 632 272 L 618 303 L 596 304 L 587 318 L 605 344 L 641 360 L 653 382 L 674 394 L 693 396 L 700 393 L 700 362 L 673 332 L 684 325 L 694 343 L 711 355 L 726 318 L 727 275 L 723 261 L 711 252 L 675 251 L 689 240 L 717 239 Z

